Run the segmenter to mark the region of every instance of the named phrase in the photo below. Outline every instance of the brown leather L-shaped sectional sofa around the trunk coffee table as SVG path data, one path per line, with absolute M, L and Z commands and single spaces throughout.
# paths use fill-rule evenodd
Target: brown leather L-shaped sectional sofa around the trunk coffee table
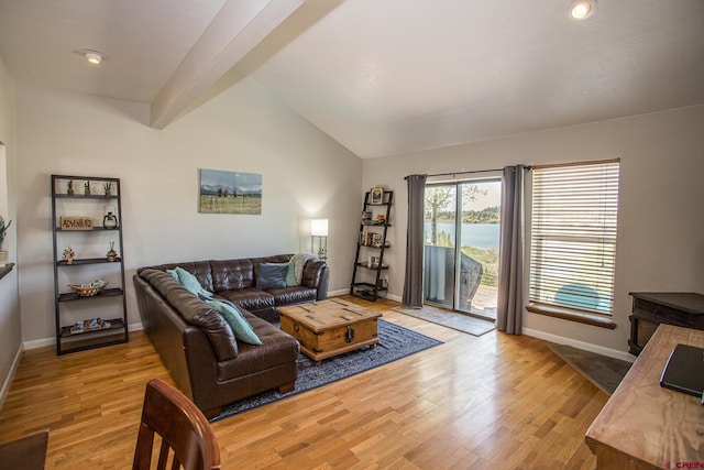
M 299 345 L 267 320 L 276 307 L 327 297 L 330 270 L 306 263 L 301 285 L 256 288 L 261 263 L 284 263 L 290 254 L 227 261 L 196 261 L 141 267 L 133 277 L 142 325 L 178 387 L 208 417 L 222 406 L 267 390 L 294 390 Z M 166 273 L 180 266 L 200 285 L 238 305 L 261 346 L 235 340 L 224 319 Z

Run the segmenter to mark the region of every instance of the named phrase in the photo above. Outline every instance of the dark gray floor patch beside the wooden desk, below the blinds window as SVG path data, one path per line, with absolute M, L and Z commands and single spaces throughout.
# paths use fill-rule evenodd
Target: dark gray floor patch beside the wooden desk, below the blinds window
M 571 346 L 548 342 L 548 348 L 558 354 L 590 382 L 607 395 L 612 395 L 630 369 L 631 363 Z

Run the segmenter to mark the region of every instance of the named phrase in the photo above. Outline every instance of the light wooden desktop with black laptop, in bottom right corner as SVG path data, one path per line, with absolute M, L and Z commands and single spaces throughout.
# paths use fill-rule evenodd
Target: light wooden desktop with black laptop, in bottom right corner
M 690 468 L 678 466 L 690 462 L 704 466 L 701 400 L 660 386 L 662 370 L 678 343 L 704 348 L 704 331 L 658 326 L 587 429 L 586 444 L 596 455 L 597 469 Z

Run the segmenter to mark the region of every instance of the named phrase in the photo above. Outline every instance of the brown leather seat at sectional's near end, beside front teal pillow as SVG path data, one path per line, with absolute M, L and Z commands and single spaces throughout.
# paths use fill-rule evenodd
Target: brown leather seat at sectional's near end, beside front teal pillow
M 218 362 L 220 381 L 256 374 L 277 365 L 296 362 L 300 346 L 295 338 L 249 311 L 242 311 L 242 315 L 252 325 L 262 345 L 251 346 L 241 342 L 237 360 Z

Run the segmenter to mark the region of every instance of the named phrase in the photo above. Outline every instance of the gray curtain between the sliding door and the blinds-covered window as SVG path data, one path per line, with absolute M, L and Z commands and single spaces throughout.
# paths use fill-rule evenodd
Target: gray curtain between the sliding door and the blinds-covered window
M 512 335 L 522 331 L 522 289 L 525 253 L 525 165 L 506 166 L 502 185 L 502 228 L 499 236 L 498 309 L 496 329 Z

